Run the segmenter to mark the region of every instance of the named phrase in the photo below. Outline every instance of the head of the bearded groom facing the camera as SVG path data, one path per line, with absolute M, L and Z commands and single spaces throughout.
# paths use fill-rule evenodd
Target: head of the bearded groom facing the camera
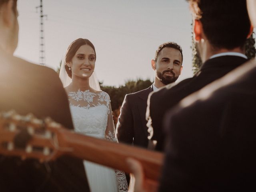
M 155 71 L 155 85 L 161 86 L 175 82 L 182 71 L 182 48 L 175 42 L 161 44 L 156 50 L 151 66 Z

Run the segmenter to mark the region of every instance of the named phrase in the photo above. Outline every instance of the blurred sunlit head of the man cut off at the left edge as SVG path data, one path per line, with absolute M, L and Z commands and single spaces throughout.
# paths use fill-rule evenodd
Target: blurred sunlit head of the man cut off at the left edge
M 0 0 L 0 47 L 13 54 L 18 45 L 17 0 Z

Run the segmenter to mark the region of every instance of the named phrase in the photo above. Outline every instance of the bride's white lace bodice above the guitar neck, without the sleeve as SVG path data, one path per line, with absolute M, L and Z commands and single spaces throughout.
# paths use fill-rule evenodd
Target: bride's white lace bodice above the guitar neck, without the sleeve
M 70 110 L 76 132 L 106 138 L 110 97 L 106 92 L 92 93 L 89 90 L 68 93 Z

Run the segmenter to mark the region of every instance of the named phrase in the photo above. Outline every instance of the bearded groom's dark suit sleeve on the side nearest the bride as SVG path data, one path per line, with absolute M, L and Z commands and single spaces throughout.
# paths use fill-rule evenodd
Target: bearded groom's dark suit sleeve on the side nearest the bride
M 129 95 L 126 95 L 120 109 L 120 115 L 116 125 L 116 134 L 119 142 L 132 144 L 134 137 L 134 120 L 129 102 Z

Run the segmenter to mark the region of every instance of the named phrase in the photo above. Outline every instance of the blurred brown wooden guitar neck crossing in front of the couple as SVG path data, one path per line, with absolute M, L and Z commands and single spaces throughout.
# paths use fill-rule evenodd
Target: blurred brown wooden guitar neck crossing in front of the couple
M 143 148 L 128 146 L 107 140 L 80 135 L 68 130 L 62 130 L 60 143 L 70 148 L 66 154 L 84 160 L 102 164 L 114 169 L 130 173 L 126 164 L 127 158 L 134 158 L 142 164 L 145 177 L 158 180 L 162 168 L 163 154 Z

